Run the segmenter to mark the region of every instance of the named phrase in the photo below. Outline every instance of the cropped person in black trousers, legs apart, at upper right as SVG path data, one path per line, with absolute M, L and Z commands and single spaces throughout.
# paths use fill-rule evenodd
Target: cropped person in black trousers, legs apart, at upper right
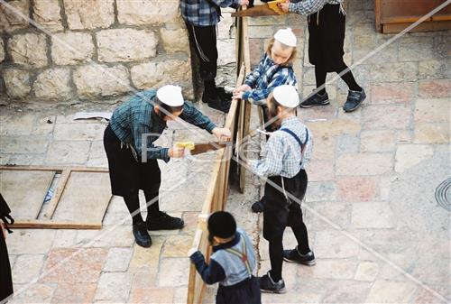
M 311 94 L 300 106 L 326 106 L 327 72 L 344 73 L 341 78 L 349 88 L 343 110 L 352 112 L 366 98 L 364 88 L 354 79 L 353 73 L 343 60 L 345 41 L 345 10 L 343 0 L 301 0 L 287 2 L 279 7 L 285 13 L 308 15 L 308 60 L 315 66 L 317 93 Z

